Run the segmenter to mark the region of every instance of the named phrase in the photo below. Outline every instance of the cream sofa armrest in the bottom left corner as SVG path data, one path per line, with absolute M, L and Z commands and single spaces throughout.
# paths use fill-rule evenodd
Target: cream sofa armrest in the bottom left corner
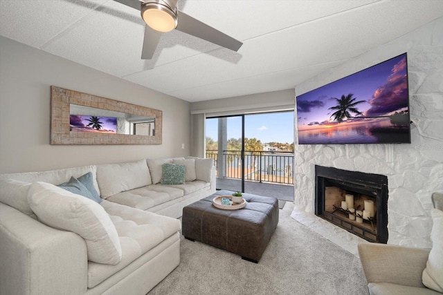
M 0 202 L 0 295 L 87 292 L 84 239 Z

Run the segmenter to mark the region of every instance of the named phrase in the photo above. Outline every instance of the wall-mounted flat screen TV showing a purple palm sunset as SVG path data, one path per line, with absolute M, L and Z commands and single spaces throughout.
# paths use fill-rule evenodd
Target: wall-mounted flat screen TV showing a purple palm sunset
M 298 95 L 298 144 L 410 143 L 406 53 Z

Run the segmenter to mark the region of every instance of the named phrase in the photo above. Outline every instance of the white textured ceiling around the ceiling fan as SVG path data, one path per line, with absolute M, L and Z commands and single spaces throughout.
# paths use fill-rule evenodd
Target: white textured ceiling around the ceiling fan
M 0 35 L 188 102 L 293 88 L 443 17 L 442 0 L 179 0 L 244 44 L 173 30 L 141 59 L 140 11 L 113 0 L 0 0 Z

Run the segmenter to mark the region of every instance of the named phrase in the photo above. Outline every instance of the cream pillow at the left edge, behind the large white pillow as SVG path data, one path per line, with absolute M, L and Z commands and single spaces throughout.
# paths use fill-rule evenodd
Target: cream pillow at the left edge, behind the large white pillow
M 8 179 L 0 180 L 0 202 L 19 210 L 32 218 L 37 219 L 35 213 L 28 204 L 28 191 L 30 183 Z

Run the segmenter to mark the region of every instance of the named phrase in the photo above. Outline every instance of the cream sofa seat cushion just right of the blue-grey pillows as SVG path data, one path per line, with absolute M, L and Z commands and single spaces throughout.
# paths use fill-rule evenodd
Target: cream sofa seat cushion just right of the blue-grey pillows
M 107 198 L 107 200 L 129 207 L 146 210 L 158 204 L 163 204 L 181 197 L 183 197 L 182 189 L 165 187 L 160 184 L 152 184 L 146 187 L 117 193 L 114 196 Z

